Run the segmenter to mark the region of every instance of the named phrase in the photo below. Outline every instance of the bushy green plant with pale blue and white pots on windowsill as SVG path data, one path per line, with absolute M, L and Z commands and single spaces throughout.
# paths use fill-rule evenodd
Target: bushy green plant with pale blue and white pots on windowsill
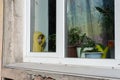
M 100 49 L 98 48 L 98 46 Z M 79 40 L 77 55 L 79 58 L 101 58 L 103 53 L 101 51 L 101 47 L 102 44 L 95 43 L 94 40 L 86 36 L 86 34 L 83 34 Z

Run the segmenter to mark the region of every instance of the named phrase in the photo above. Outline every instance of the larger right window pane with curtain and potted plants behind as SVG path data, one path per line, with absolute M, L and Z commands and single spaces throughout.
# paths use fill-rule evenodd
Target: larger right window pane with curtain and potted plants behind
M 114 58 L 114 0 L 67 0 L 67 57 Z

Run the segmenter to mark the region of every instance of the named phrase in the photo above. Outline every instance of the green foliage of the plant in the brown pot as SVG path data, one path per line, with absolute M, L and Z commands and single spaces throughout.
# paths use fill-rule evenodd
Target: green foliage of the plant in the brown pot
M 77 42 L 80 39 L 80 28 L 79 27 L 72 27 L 68 31 L 68 45 L 69 46 L 76 46 Z

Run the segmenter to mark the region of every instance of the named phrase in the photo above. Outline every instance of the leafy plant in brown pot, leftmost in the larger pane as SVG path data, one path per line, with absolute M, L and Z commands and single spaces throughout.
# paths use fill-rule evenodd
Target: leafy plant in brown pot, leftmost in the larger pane
M 68 30 L 68 54 L 67 57 L 77 57 L 76 44 L 80 38 L 79 27 L 72 27 Z

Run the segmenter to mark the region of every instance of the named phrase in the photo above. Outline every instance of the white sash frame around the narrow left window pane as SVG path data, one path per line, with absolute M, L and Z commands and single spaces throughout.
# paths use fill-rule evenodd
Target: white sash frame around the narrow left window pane
M 65 47 L 64 47 L 64 0 L 57 0 L 57 9 L 56 9 L 56 14 L 60 15 L 60 16 L 56 16 L 57 21 L 56 21 L 56 52 L 40 52 L 40 54 L 36 54 L 36 52 L 30 52 L 30 0 L 26 0 L 26 5 L 27 5 L 27 9 L 26 9 L 26 16 L 27 16 L 27 20 L 26 20 L 26 49 L 27 49 L 27 56 L 30 57 L 64 57 L 64 51 L 65 51 Z

